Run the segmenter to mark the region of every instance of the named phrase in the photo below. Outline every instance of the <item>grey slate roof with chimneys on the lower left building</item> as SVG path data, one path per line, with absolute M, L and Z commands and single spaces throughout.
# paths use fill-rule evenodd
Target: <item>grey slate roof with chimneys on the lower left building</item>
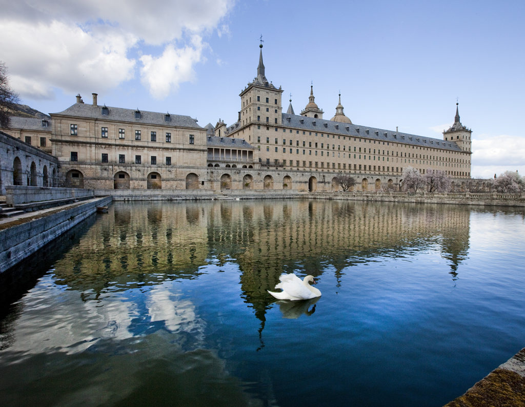
M 103 108 L 108 109 L 107 115 L 102 114 Z M 140 119 L 135 119 L 135 111 L 140 111 Z M 197 124 L 196 119 L 193 119 L 190 116 L 150 112 L 147 110 L 123 109 L 110 106 L 93 106 L 89 103 L 75 103 L 75 105 L 68 107 L 64 111 L 51 114 L 86 117 L 89 119 L 115 120 L 132 123 L 158 124 L 162 126 L 190 127 L 195 129 L 202 129 L 202 127 Z M 166 115 L 169 116 L 170 121 L 165 120 Z

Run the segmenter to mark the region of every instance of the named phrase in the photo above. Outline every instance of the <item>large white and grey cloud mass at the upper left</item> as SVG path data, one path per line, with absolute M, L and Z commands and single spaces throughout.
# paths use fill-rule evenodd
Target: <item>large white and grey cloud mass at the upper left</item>
M 50 98 L 53 88 L 75 93 L 114 88 L 135 76 L 133 53 L 145 54 L 143 84 L 152 95 L 166 97 L 192 79 L 194 64 L 204 60 L 202 36 L 217 28 L 232 0 L 0 3 L 0 55 L 23 98 Z

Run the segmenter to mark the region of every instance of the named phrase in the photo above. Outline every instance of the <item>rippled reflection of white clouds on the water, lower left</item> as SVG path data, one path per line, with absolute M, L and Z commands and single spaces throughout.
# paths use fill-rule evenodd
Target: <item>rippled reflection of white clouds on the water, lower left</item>
M 195 306 L 180 294 L 171 293 L 170 283 L 151 290 L 141 304 L 140 300 L 131 300 L 132 291 L 101 294 L 95 299 L 89 292 L 79 295 L 78 291 L 64 290 L 52 278 L 44 277 L 47 281 L 41 281 L 20 300 L 23 311 L 11 326 L 10 346 L 4 343 L 10 350 L 76 353 L 102 339 L 121 341 L 162 326 L 191 333 L 197 341 L 204 339 L 204 324 L 197 318 Z

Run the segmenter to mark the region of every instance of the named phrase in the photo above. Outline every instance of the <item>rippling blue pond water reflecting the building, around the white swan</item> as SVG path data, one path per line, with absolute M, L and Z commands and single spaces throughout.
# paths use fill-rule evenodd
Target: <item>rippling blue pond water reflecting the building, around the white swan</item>
M 36 277 L 0 312 L 3 404 L 443 405 L 525 346 L 524 225 L 506 208 L 114 203 L 21 267 Z M 274 301 L 283 272 L 322 297 Z

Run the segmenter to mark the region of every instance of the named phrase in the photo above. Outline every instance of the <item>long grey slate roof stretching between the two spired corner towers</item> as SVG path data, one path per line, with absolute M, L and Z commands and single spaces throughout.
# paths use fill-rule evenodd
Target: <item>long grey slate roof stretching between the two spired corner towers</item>
M 297 116 L 297 114 L 282 113 L 282 126 L 305 131 L 315 131 L 317 133 L 350 135 L 351 137 L 361 137 L 392 143 L 405 143 L 421 147 L 462 151 L 453 141 L 444 141 L 441 139 L 423 137 L 421 135 L 359 126 L 359 124 L 340 123 L 330 120 Z

